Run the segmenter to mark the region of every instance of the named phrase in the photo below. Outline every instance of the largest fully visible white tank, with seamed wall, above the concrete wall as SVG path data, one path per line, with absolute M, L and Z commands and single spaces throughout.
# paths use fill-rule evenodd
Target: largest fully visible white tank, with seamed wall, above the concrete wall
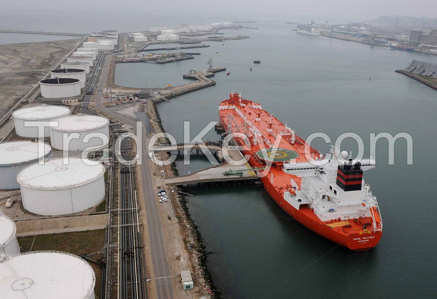
M 46 161 L 20 171 L 21 198 L 25 210 L 37 215 L 59 216 L 85 211 L 105 197 L 105 167 L 81 158 Z M 86 163 L 86 164 L 85 164 Z

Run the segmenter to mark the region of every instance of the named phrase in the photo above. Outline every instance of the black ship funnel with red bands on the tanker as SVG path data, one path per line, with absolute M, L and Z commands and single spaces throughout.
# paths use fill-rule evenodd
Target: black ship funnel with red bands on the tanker
M 356 191 L 361 190 L 361 184 L 363 182 L 363 170 L 361 169 L 361 163 L 356 162 L 353 164 L 352 158 L 349 158 L 348 162 L 344 165 L 339 165 L 337 168 L 337 185 L 344 191 Z

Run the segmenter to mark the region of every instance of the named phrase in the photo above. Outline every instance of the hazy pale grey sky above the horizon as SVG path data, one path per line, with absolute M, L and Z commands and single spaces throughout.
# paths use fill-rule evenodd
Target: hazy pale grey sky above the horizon
M 361 22 L 380 16 L 437 17 L 436 0 L 18 0 L 3 1 L 0 29 L 32 30 L 54 26 L 88 32 L 94 23 L 119 30 L 154 24 L 202 24 L 217 21 L 280 20 L 319 23 Z M 171 24 L 174 22 L 175 24 Z M 169 24 L 170 23 L 170 24 Z M 127 25 L 129 24 L 129 25 Z M 121 28 L 120 28 L 121 27 Z M 134 28 L 132 28 L 134 29 Z M 71 31 L 71 30 L 67 30 Z

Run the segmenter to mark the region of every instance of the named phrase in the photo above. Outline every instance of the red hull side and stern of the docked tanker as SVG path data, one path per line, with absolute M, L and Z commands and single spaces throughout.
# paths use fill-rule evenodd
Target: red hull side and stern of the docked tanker
M 223 127 L 226 127 L 227 123 L 223 118 L 220 117 L 220 124 L 223 125 Z M 244 143 L 241 140 L 234 140 L 239 146 L 244 147 Z M 250 156 L 248 163 L 252 167 L 262 166 L 256 159 L 253 158 L 253 155 L 250 151 L 242 150 L 242 153 Z M 276 204 L 281 207 L 282 210 L 284 210 L 284 212 L 296 219 L 307 229 L 335 242 L 338 245 L 354 251 L 363 251 L 375 247 L 381 239 L 381 232 L 360 233 L 360 231 L 356 231 L 356 233 L 353 234 L 345 234 L 342 233 L 341 228 L 330 228 L 319 220 L 319 218 L 313 213 L 312 209 L 301 208 L 300 210 L 297 210 L 291 204 L 289 204 L 283 198 L 282 194 L 278 192 L 275 186 L 270 184 L 269 176 L 262 177 L 260 180 L 263 183 L 264 189 L 267 191 L 267 193 L 269 193 L 271 199 L 273 199 Z M 366 220 L 363 222 L 371 221 L 370 218 L 364 218 L 360 220 Z

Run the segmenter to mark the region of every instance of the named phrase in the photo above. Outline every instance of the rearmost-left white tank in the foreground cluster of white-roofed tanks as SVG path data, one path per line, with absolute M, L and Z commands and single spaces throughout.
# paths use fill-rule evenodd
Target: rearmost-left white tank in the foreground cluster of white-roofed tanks
M 69 116 L 71 114 L 70 109 L 64 106 L 34 106 L 21 108 L 12 114 L 15 123 L 15 133 L 21 137 L 38 138 L 37 127 L 25 127 L 25 121 L 38 121 L 42 122 L 45 126 L 44 136 L 50 137 L 49 121 L 55 118 L 61 118 Z

